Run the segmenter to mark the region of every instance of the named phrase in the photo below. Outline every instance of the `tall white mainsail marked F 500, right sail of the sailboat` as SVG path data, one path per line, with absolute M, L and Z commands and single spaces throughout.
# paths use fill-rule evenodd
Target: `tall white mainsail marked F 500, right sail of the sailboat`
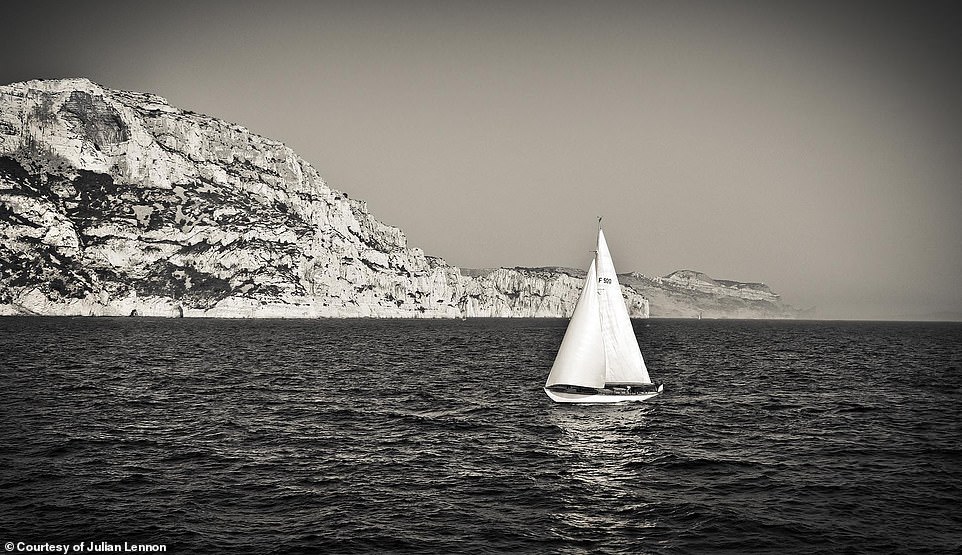
M 608 383 L 651 383 L 621 294 L 605 234 L 598 230 L 598 305 Z

